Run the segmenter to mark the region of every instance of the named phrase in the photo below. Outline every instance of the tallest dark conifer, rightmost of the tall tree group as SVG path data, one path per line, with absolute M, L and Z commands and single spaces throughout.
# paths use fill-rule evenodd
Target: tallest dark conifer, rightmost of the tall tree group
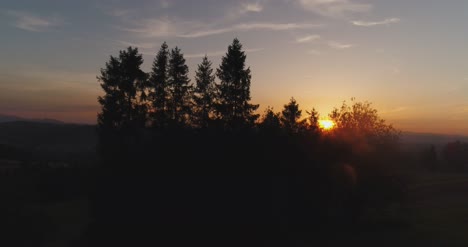
M 217 85 L 217 113 L 226 129 L 253 126 L 259 117 L 254 114 L 259 105 L 249 103 L 251 75 L 250 68 L 245 68 L 245 59 L 242 44 L 236 38 L 216 72 L 220 80 Z

